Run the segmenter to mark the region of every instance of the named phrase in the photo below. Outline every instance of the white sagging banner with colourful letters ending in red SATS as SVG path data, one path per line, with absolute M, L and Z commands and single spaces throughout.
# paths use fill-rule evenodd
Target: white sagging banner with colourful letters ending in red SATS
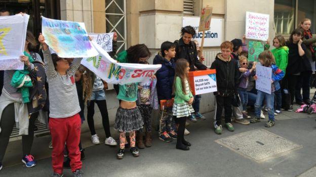
M 92 45 L 99 55 L 83 58 L 81 64 L 109 84 L 126 84 L 150 79 L 161 68 L 161 65 L 117 63 L 95 41 Z

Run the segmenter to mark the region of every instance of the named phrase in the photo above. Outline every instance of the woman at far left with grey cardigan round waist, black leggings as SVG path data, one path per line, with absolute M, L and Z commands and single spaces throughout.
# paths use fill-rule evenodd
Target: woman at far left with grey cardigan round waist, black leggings
M 24 46 L 25 55 L 21 56 L 21 61 L 24 62 L 25 70 L 28 70 L 28 72 L 31 73 L 35 73 L 36 71 L 34 65 L 30 61 L 35 60 L 42 62 L 42 58 L 38 53 L 30 51 L 35 49 L 36 45 L 35 37 L 28 31 L 26 33 Z M 29 115 L 27 106 L 22 102 L 21 92 L 18 91 L 18 88 L 11 85 L 11 80 L 16 71 L 17 70 L 5 71 L 4 88 L 0 97 L 0 113 L 2 113 L 0 120 L 0 170 L 2 168 L 2 160 L 9 143 L 16 115 L 18 116 L 17 119 L 22 118 L 23 120 L 27 120 L 27 122 L 19 122 L 20 134 L 22 134 L 22 162 L 25 163 L 26 167 L 33 167 L 36 165 L 36 161 L 34 160 L 34 157 L 30 155 L 30 151 L 34 139 L 34 121 L 38 116 L 38 111 Z M 23 126 L 21 124 L 25 125 L 26 128 L 24 127 L 24 129 L 21 129 L 21 126 Z

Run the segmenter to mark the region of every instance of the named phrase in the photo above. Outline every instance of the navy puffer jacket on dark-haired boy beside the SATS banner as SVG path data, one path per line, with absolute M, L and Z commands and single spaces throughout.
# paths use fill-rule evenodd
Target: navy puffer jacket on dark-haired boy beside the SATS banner
M 156 72 L 157 77 L 157 95 L 159 100 L 171 99 L 172 96 L 172 85 L 175 76 L 175 63 L 171 59 L 169 62 L 159 52 L 153 59 L 153 65 L 161 64 L 162 67 Z

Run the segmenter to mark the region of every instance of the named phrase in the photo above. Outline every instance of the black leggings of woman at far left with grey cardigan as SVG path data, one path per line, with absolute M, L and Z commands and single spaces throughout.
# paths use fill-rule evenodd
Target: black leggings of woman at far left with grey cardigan
M 22 135 L 23 156 L 30 154 L 34 139 L 34 122 L 38 112 L 32 113 L 29 119 L 28 135 Z M 28 119 L 28 117 L 26 117 Z M 0 162 L 2 162 L 8 147 L 10 135 L 15 123 L 14 103 L 9 104 L 2 112 L 0 127 Z

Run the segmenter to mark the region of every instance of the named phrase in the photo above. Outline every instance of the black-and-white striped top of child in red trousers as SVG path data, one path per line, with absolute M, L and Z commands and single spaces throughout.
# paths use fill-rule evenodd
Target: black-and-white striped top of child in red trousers
M 50 117 L 65 118 L 80 112 L 74 74 L 80 66 L 82 58 L 74 58 L 66 75 L 55 71 L 52 55 L 49 49 L 43 51 L 45 72 L 48 82 L 50 101 Z

